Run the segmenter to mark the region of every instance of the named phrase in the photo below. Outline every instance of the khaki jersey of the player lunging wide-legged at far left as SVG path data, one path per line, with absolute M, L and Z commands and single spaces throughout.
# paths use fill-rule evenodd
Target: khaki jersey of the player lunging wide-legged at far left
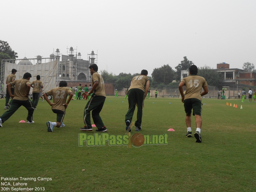
M 30 84 L 29 80 L 22 78 L 22 79 L 13 81 L 10 84 L 15 85 L 15 88 L 14 88 L 15 97 L 13 99 L 21 100 L 21 101 L 28 100 L 28 97 L 26 97 L 26 94 L 27 94 L 27 84 Z

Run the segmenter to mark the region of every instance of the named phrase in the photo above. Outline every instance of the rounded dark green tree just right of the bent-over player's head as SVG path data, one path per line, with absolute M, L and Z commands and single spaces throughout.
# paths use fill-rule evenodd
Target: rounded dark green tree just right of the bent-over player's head
M 158 84 L 169 84 L 176 78 L 176 74 L 169 64 L 160 68 L 155 68 L 151 75 L 154 82 L 157 82 Z

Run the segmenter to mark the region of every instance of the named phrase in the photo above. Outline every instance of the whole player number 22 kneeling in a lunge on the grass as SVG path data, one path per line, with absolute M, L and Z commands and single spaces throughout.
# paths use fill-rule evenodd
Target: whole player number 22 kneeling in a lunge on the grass
M 69 97 L 68 97 L 68 101 L 66 102 L 68 94 L 69 94 Z M 53 103 L 49 101 L 48 95 L 52 95 Z M 63 119 L 65 116 L 68 103 L 73 97 L 72 91 L 70 90 L 70 88 L 67 87 L 67 82 L 60 81 L 58 87 L 53 88 L 50 91 L 47 91 L 46 93 L 43 94 L 43 97 L 51 106 L 52 112 L 57 114 L 57 122 L 48 121 L 46 123 L 48 127 L 47 131 L 52 132 L 53 126 L 65 127 L 65 125 L 63 124 Z

